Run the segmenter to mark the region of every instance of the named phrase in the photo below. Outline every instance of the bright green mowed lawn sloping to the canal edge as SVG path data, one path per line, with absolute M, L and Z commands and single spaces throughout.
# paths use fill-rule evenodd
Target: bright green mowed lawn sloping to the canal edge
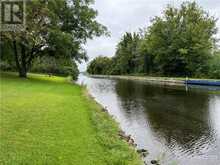
M 139 165 L 118 125 L 61 77 L 1 73 L 0 164 Z

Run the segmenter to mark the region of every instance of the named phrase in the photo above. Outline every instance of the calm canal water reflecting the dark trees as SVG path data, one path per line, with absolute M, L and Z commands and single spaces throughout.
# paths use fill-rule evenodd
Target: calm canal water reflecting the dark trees
M 146 158 L 163 165 L 220 165 L 220 95 L 207 89 L 95 79 L 80 84 L 120 123 Z M 220 89 L 218 89 L 220 90 Z

